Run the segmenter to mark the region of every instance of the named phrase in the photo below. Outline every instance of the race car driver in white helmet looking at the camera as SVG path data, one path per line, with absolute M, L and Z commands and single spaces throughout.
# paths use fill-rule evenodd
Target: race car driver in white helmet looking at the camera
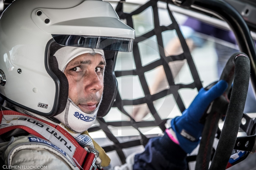
M 113 59 L 104 50 L 130 52 L 134 30 L 110 4 L 96 0 L 17 0 L 0 25 L 3 168 L 108 166 L 107 154 L 86 130 L 112 94 L 105 89 L 113 84 L 106 79 L 113 76 L 106 71 L 114 67 Z M 151 139 L 144 152 L 115 169 L 186 169 L 185 158 L 204 127 L 199 119 L 226 88 L 219 81 L 208 91 L 201 89 L 163 137 Z

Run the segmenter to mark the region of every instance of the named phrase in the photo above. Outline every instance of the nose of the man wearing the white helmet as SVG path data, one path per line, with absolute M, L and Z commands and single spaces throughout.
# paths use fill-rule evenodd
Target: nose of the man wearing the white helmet
M 102 87 L 103 83 L 96 72 L 84 77 L 85 92 L 98 92 Z

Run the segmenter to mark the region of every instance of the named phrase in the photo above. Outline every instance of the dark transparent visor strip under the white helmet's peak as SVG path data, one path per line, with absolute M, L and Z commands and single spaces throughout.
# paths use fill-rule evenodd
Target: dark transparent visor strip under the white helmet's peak
M 132 52 L 133 39 L 130 38 L 61 34 L 52 34 L 52 37 L 62 46 Z

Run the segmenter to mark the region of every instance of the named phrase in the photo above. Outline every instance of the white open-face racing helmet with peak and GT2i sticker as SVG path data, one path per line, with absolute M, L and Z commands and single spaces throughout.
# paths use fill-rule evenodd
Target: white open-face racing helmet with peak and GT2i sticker
M 0 96 L 32 113 L 56 116 L 66 107 L 68 81 L 54 53 L 64 46 L 103 49 L 102 117 L 117 92 L 117 51 L 131 52 L 134 38 L 108 2 L 16 0 L 0 17 Z

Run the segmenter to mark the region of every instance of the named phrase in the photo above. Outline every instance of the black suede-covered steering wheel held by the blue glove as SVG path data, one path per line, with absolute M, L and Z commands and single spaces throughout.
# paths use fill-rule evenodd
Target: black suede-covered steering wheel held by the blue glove
M 226 169 L 226 167 L 230 167 L 241 161 L 239 159 L 239 161 L 232 162 L 232 165 L 227 166 L 234 146 L 235 144 L 237 146 L 238 143 L 236 142 L 236 136 L 241 123 L 241 119 L 243 117 L 249 79 L 249 57 L 241 52 L 233 54 L 229 58 L 220 77 L 220 80 L 225 80 L 228 83 L 228 88 L 219 98 L 211 103 L 203 116 L 203 118 L 206 116 L 207 117 L 206 121 L 204 122 L 205 125 L 202 133 L 199 152 L 196 156 L 196 170 L 208 170 L 212 155 L 212 145 L 215 134 L 218 130 L 218 122 L 223 115 L 226 115 L 226 119 L 220 134 L 220 140 L 216 148 L 216 152 L 214 153 L 210 169 Z M 232 87 L 233 80 L 234 83 Z M 206 87 L 206 89 L 210 89 L 212 85 L 214 85 L 214 83 Z M 228 93 L 231 87 L 232 92 L 229 100 Z M 239 146 L 246 146 L 245 143 L 246 141 L 240 140 Z M 249 146 L 250 144 L 247 145 Z M 248 154 L 246 153 L 245 155 Z M 245 155 L 243 156 L 243 159 L 246 158 Z

